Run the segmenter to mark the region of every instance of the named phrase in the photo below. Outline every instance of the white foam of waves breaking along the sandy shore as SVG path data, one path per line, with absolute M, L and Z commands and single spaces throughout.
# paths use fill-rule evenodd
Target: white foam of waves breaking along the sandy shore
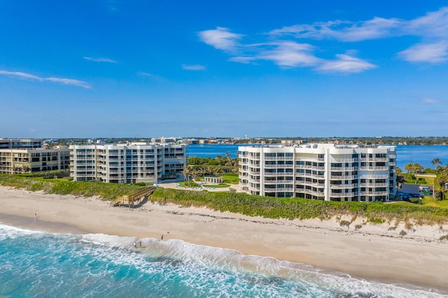
M 141 241 L 144 248 L 137 248 L 136 251 L 143 253 L 143 255 L 168 257 L 181 262 L 191 262 L 191 264 L 183 264 L 182 270 L 185 270 L 184 274 L 191 274 L 191 271 L 195 270 L 197 270 L 197 274 L 201 274 L 200 270 L 192 268 L 193 266 L 199 265 L 212 270 L 216 269 L 217 271 L 225 270 L 240 274 L 255 273 L 271 278 L 278 277 L 283 281 L 304 283 L 307 285 L 307 288 L 314 288 L 314 291 L 318 291 L 319 288 L 325 288 L 332 289 L 334 292 L 357 293 L 356 295 L 379 295 L 379 297 L 446 297 L 436 292 L 429 292 L 428 290 L 405 288 L 403 285 L 374 283 L 363 279 L 352 278 L 349 274 L 341 272 L 321 270 L 307 264 L 279 261 L 272 257 L 243 255 L 237 250 L 198 246 L 181 240 L 169 239 L 167 241 L 159 241 L 158 239 L 136 239 L 134 237 L 119 237 L 104 234 L 83 235 L 83 239 L 85 241 L 102 243 L 103 245 L 126 250 L 133 250 L 132 243 L 134 241 Z M 118 258 L 120 260 L 118 262 L 135 264 L 135 266 L 147 272 L 163 270 L 157 267 L 141 267 L 141 264 L 144 264 L 144 262 L 139 260 L 140 257 L 136 257 L 139 253 L 127 255 L 127 260 L 121 254 L 121 259 Z M 117 254 L 120 255 L 119 252 Z M 176 271 L 176 274 L 181 276 L 183 272 Z M 217 274 L 214 278 L 225 279 L 228 276 L 220 276 Z

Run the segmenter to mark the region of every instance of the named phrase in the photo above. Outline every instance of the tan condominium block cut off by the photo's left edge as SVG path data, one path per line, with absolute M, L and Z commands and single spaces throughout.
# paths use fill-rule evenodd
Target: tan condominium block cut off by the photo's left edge
M 66 146 L 42 148 L 42 140 L 0 139 L 0 173 L 34 173 L 69 169 Z

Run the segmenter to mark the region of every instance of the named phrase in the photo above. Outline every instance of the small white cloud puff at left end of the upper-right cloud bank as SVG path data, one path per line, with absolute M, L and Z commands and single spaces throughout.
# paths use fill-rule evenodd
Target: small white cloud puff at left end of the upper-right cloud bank
M 214 30 L 205 30 L 198 33 L 201 41 L 218 50 L 235 50 L 241 34 L 230 32 L 228 28 L 216 27 Z

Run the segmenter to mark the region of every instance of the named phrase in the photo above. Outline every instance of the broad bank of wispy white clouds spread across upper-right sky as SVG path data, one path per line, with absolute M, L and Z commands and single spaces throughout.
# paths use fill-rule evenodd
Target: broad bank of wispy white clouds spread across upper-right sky
M 230 62 L 258 64 L 265 60 L 282 68 L 311 67 L 322 73 L 359 73 L 377 65 L 349 54 L 336 55 L 337 59 L 317 57 L 315 52 L 325 52 L 325 48 L 312 45 L 312 40 L 356 44 L 380 38 L 416 36 L 421 38 L 421 43 L 406 50 L 403 48 L 398 57 L 407 62 L 437 64 L 448 61 L 448 7 L 412 20 L 373 17 L 370 20 L 295 24 L 260 34 L 252 39 L 261 38 L 261 41 L 253 44 L 243 42 L 244 34 L 224 27 L 200 31 L 198 36 L 204 43 L 226 52 Z M 303 42 L 305 38 L 306 43 Z

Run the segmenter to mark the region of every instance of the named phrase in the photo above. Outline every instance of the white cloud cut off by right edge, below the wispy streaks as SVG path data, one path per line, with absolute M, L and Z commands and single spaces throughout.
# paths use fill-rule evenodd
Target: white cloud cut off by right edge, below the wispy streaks
M 413 45 L 411 48 L 399 52 L 402 59 L 409 62 L 440 63 L 448 59 L 448 42 Z

